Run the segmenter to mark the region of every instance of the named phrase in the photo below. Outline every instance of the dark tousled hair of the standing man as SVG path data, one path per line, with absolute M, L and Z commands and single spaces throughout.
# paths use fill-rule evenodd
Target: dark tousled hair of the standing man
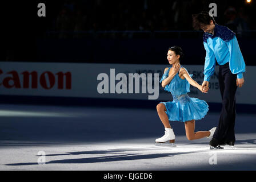
M 213 15 L 210 15 L 210 13 L 206 11 L 202 11 L 201 13 L 192 15 L 192 19 L 193 27 L 195 30 L 200 30 L 202 26 L 210 24 L 210 20 L 213 20 L 214 24 L 216 23 Z

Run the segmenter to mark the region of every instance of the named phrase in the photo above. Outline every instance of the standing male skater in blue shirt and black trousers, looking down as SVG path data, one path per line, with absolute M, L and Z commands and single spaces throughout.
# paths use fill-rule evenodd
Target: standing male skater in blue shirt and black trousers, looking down
M 215 23 L 212 15 L 201 12 L 193 15 L 193 27 L 202 29 L 203 46 L 206 50 L 205 69 L 202 86 L 208 86 L 214 73 L 215 59 L 219 64 L 219 89 L 222 97 L 222 110 L 219 124 L 210 141 L 210 149 L 222 148 L 219 145 L 235 144 L 235 92 L 237 86 L 245 82 L 245 61 L 243 60 L 235 33 L 229 28 Z M 207 88 L 203 89 L 205 92 Z

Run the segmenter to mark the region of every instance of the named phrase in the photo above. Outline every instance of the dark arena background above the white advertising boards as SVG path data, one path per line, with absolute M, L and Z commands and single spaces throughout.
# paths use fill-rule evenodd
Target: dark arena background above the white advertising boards
M 38 17 L 38 3 L 46 17 Z M 171 46 L 181 64 L 204 64 L 202 31 L 191 15 L 217 4 L 218 24 L 236 32 L 246 65 L 255 65 L 255 2 L 6 1 L 1 2 L 1 61 L 166 64 Z

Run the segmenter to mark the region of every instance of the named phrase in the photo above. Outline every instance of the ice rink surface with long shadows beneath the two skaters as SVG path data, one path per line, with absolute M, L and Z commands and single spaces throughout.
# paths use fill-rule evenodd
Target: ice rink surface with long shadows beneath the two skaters
M 237 113 L 235 148 L 210 150 L 171 122 L 177 147 L 155 146 L 155 108 L 0 105 L 0 170 L 255 170 L 256 114 Z M 195 131 L 217 126 L 209 112 Z

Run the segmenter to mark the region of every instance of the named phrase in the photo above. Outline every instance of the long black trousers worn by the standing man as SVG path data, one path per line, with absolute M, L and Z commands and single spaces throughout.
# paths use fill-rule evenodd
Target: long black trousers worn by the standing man
M 219 89 L 222 97 L 222 110 L 219 125 L 213 138 L 218 144 L 235 141 L 235 92 L 237 75 L 231 73 L 229 63 L 219 66 Z

